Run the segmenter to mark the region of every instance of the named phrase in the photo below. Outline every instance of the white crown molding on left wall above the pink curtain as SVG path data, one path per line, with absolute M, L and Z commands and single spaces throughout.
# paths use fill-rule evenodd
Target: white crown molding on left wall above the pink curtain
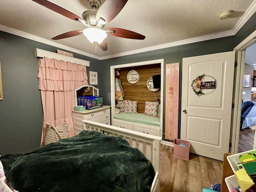
M 77 49 L 74 49 L 74 48 L 71 48 L 71 47 L 68 47 L 68 46 L 65 46 L 65 45 L 62 45 L 62 44 L 59 44 L 59 43 L 56 43 L 56 42 L 52 42 L 50 40 L 46 40 L 44 38 L 41 38 L 41 37 L 38 37 L 38 36 L 35 36 L 35 35 L 32 35 L 32 34 L 28 34 L 28 33 L 25 33 L 25 32 L 10 28 L 10 27 L 6 27 L 4 25 L 0 25 L 0 30 L 4 31 L 4 32 L 7 32 L 7 33 L 10 33 L 10 34 L 20 36 L 20 37 L 24 37 L 24 38 L 27 38 L 27 39 L 30 39 L 30 40 L 34 40 L 34 41 L 37 41 L 37 42 L 40 42 L 40 43 L 44 43 L 44 44 L 47 44 L 47 45 L 50 45 L 50 46 L 61 48 L 61 49 L 67 50 L 67 51 L 72 51 L 74 53 L 78 53 L 78 54 L 81 54 L 81 55 L 84 55 L 84 56 L 88 56 L 88 57 L 100 60 L 100 57 L 98 57 L 98 56 L 95 56 L 95 55 L 92 55 L 92 54 L 89 54 L 89 53 L 86 53 L 86 52 L 83 52 L 83 51 L 80 51 L 80 50 L 77 50 Z

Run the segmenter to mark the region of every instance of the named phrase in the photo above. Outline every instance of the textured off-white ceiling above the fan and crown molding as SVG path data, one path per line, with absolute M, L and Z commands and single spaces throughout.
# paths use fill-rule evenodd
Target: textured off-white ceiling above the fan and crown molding
M 89 9 L 87 0 L 49 1 L 80 17 Z M 0 25 L 100 58 L 233 30 L 251 4 L 255 4 L 255 0 L 128 0 L 104 29 L 132 30 L 146 36 L 145 40 L 108 35 L 108 50 L 97 48 L 96 52 L 84 35 L 51 40 L 59 34 L 86 27 L 32 0 L 0 0 Z M 227 10 L 235 12 L 231 18 L 220 20 L 220 13 Z

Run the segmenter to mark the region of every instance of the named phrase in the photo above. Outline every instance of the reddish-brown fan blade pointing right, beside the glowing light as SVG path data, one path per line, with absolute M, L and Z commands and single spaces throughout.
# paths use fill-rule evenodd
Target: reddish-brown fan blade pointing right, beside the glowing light
M 130 30 L 122 29 L 122 28 L 107 28 L 106 32 L 116 37 L 122 37 L 122 38 L 128 38 L 128 39 L 140 39 L 140 40 L 145 39 L 145 36 L 142 34 L 139 34 Z

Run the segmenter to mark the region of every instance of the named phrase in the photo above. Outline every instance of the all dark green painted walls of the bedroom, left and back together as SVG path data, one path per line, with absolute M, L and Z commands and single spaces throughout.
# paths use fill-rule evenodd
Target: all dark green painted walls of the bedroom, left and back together
M 99 61 L 73 54 L 76 58 L 90 61 L 90 68 L 87 71 L 98 72 L 99 85 L 96 87 L 100 89 L 104 104 L 110 105 L 110 66 L 164 58 L 164 65 L 180 62 L 181 74 L 182 58 L 232 51 L 238 43 L 256 30 L 255 21 L 256 14 L 235 36 L 108 60 Z M 38 59 L 34 57 L 34 48 L 52 52 L 56 52 L 57 49 L 0 31 L 0 61 L 4 93 L 4 100 L 0 101 L 0 154 L 2 155 L 27 152 L 40 146 L 43 114 L 40 91 L 38 90 Z M 181 80 L 182 76 L 180 75 L 180 83 Z M 165 90 L 163 94 L 165 95 Z

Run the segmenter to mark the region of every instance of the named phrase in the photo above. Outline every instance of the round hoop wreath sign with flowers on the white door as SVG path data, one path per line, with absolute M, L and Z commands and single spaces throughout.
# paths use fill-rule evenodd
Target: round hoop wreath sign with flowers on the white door
M 202 80 L 204 79 L 205 76 L 209 76 L 211 78 L 213 78 L 215 81 L 212 81 L 212 84 L 208 86 L 209 89 L 212 89 L 214 88 L 214 90 L 216 90 L 216 87 L 217 87 L 217 82 L 216 82 L 216 79 L 210 75 L 206 75 L 206 74 L 202 74 L 202 75 L 199 75 L 197 76 L 193 81 L 192 81 L 192 89 L 193 91 L 195 92 L 196 95 L 198 96 L 201 96 L 201 95 L 204 95 L 204 94 L 209 94 L 209 93 L 203 93 L 202 89 L 206 89 L 206 87 L 202 87 Z M 204 84 L 207 84 L 209 82 L 203 82 Z M 210 82 L 211 83 L 211 82 Z M 213 85 L 213 86 L 212 86 Z M 214 92 L 214 90 L 212 92 Z M 212 93 L 210 92 L 210 93 Z

